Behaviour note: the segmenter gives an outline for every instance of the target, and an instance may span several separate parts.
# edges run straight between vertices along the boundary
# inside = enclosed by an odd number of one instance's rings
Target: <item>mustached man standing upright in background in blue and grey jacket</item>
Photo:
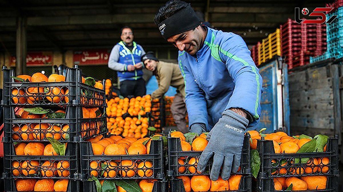
[[[121,28],[120,38],[121,41],[111,51],[108,67],[117,71],[122,96],[143,96],[146,88],[145,81],[142,79],[141,56],[145,54],[145,51],[141,45],[133,41],[131,27]]]

